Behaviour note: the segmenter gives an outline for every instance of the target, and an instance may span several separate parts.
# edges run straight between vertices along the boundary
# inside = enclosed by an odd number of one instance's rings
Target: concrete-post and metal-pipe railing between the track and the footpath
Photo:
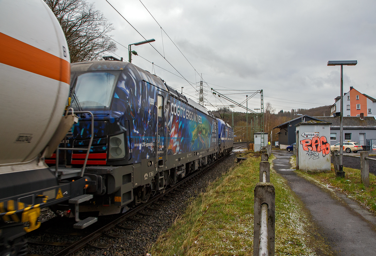
[[[255,186],[253,256],[274,256],[275,190],[270,183],[267,149],[262,149],[260,179]]]

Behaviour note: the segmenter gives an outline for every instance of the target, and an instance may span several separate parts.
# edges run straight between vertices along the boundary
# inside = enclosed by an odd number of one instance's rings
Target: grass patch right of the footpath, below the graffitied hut
[[[295,158],[291,158],[291,163]],[[337,178],[334,173],[334,166],[331,164],[331,172],[307,173],[296,170],[297,175],[315,182],[320,187],[332,191],[340,191],[347,197],[355,200],[365,209],[376,214],[376,176],[370,173],[370,186],[364,187],[361,180],[360,170],[343,167],[345,178]]]

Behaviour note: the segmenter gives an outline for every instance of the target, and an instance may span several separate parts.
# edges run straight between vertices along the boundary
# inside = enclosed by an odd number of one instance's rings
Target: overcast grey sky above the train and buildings
[[[210,88],[223,94],[262,89],[264,106],[270,102],[276,111],[331,105],[340,95],[340,66],[326,66],[328,60],[357,60],[344,66],[344,92],[353,86],[376,98],[374,0],[141,1],[191,64],[139,0],[108,0],[144,38],[156,40],[151,44],[173,67],[149,44],[132,46],[139,54],[132,63],[179,91],[183,86],[183,94],[196,101],[202,74],[208,109],[230,104]],[[126,47],[144,41],[105,0],[89,2],[113,23],[115,41]],[[115,53],[127,60],[127,48],[117,47]],[[227,96],[241,103],[246,94],[252,92]],[[259,94],[248,107],[260,108]]]

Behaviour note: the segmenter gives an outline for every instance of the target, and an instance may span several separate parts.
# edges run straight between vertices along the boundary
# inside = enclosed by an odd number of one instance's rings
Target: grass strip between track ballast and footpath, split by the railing
[[[191,201],[151,246],[152,256],[253,254],[253,190],[261,159],[250,152],[246,156]],[[285,179],[273,170],[270,179],[276,191],[275,255],[331,255]]]

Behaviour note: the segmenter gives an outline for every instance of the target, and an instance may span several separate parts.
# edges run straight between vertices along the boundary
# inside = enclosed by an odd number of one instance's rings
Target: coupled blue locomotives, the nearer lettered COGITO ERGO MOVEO
[[[127,211],[232,149],[230,126],[129,62],[72,63],[70,97],[74,110],[89,110],[95,117],[84,175],[94,198],[80,204],[80,212]],[[88,128],[88,116],[82,114],[65,146],[87,147]],[[84,152],[62,152],[59,166],[81,167],[84,158]],[[46,161],[55,164],[55,158]]]

